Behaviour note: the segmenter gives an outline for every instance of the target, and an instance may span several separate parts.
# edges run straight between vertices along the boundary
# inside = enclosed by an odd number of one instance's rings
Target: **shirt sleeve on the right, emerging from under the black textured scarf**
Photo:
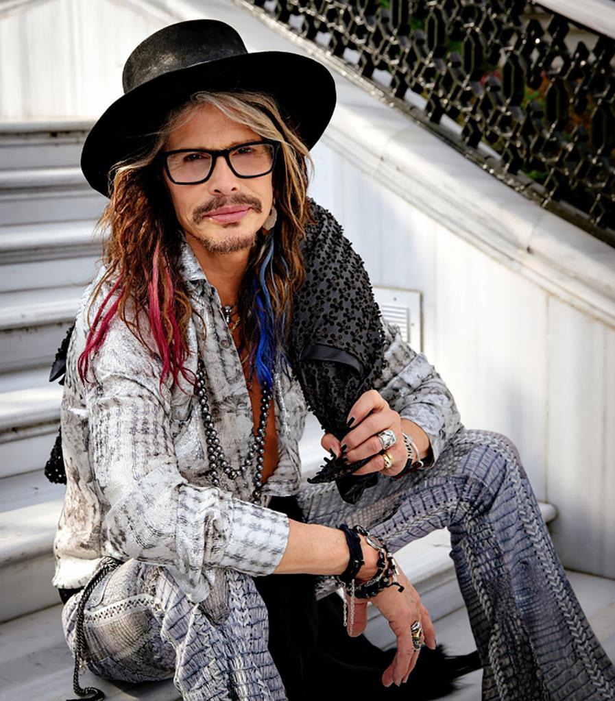
[[[406,343],[397,326],[381,318],[384,328],[385,367],[374,389],[391,409],[420,426],[431,443],[431,460],[438,460],[442,448],[463,427],[457,404],[449,388],[423,353]]]

